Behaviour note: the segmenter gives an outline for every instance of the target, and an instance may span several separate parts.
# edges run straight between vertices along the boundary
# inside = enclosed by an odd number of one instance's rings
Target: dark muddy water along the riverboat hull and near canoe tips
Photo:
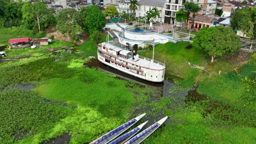
[[[163,82],[160,82],[160,83],[142,80],[135,76],[126,74],[120,70],[109,67],[108,65],[101,63],[97,59],[91,59],[90,62],[84,63],[84,66],[88,67],[88,68],[96,68],[96,69],[104,71],[106,73],[117,75],[117,79],[125,79],[128,81],[133,81],[133,82],[137,83],[138,85],[144,86],[145,88],[152,88],[154,90],[154,93],[150,94],[151,101],[158,101],[159,98],[161,98],[161,97],[167,97],[167,96],[172,95],[169,92],[169,90],[175,85],[175,83],[170,81],[170,79],[164,80]],[[168,76],[168,77],[170,77],[170,76]],[[187,95],[187,92],[181,92],[181,93],[172,95],[172,97],[184,98],[186,95]],[[179,104],[184,104],[184,100],[179,101]],[[144,113],[144,112],[150,111],[150,109],[152,109],[152,108],[144,107],[143,109],[137,109],[133,114],[139,115],[139,113]],[[149,122],[145,125],[144,128],[149,127],[150,125],[152,125],[156,121],[159,121],[163,117],[165,117],[165,115],[162,115],[161,113],[159,113],[156,116],[147,116],[146,115],[145,117],[142,118],[142,121],[148,120]],[[132,118],[133,117],[130,117],[129,119],[132,119]]]

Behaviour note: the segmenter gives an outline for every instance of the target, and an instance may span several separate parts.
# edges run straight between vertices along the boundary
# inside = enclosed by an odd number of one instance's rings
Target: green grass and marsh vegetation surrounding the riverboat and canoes
[[[155,59],[166,62],[167,76],[183,78],[175,80],[176,86],[166,98],[155,97],[151,88],[84,68],[87,57],[97,55],[97,45],[91,40],[79,46],[54,40],[46,47],[71,46],[72,53],[58,50],[43,57],[0,62],[0,141],[43,143],[68,133],[70,143],[87,143],[147,112],[142,121],[150,117],[157,121],[163,116],[169,119],[143,143],[254,143],[254,61],[230,73],[239,61],[218,58],[212,65],[203,53],[185,49],[188,44],[155,46]],[[48,50],[37,47],[5,52],[16,57]],[[146,57],[152,54],[139,53]],[[190,68],[187,62],[206,67],[210,75]],[[197,91],[207,96],[190,91],[183,98],[181,92],[188,91],[197,80]],[[20,89],[27,84],[33,88]]]

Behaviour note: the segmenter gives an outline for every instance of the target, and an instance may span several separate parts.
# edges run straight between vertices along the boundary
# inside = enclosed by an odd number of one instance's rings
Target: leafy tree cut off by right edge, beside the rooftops
[[[236,9],[231,19],[231,27],[248,37],[256,36],[256,7]]]

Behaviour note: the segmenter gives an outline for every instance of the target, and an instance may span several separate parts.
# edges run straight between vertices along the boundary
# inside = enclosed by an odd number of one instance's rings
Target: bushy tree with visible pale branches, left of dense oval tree
[[[77,34],[82,32],[78,21],[79,19],[79,12],[74,8],[61,9],[60,13],[57,14],[56,29],[62,34],[70,34],[73,40],[77,40]]]

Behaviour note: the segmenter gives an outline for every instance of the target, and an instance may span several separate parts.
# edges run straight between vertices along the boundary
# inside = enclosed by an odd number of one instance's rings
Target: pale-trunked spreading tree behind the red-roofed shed
[[[51,11],[47,8],[47,5],[44,2],[35,2],[33,4],[26,2],[22,5],[22,17],[24,23],[28,25],[30,21],[36,22],[38,31],[41,31],[40,25],[45,17],[52,15],[50,12]]]

